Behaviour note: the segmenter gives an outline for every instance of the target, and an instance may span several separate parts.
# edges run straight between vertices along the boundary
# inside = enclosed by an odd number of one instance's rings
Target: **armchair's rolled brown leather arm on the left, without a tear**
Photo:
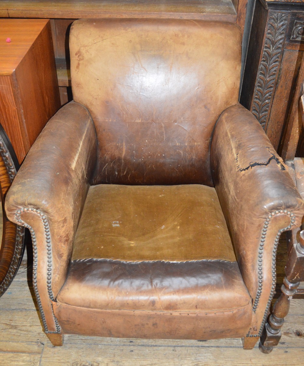
[[[96,155],[91,116],[85,107],[70,102],[49,120],[5,199],[8,219],[31,228],[38,276],[45,277],[42,285],[48,284],[50,299],[65,281]],[[42,285],[38,282],[38,290]]]

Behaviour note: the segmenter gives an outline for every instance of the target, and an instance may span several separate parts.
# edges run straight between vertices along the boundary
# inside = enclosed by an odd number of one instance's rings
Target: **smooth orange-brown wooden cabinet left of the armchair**
[[[0,123],[19,163],[59,108],[49,20],[0,19]]]

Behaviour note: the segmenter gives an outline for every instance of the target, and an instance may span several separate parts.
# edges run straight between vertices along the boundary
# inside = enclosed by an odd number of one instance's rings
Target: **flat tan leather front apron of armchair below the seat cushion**
[[[148,339],[217,339],[244,337],[251,305],[229,311],[98,310],[53,303],[63,333]],[[75,326],[77,324],[77,326]]]

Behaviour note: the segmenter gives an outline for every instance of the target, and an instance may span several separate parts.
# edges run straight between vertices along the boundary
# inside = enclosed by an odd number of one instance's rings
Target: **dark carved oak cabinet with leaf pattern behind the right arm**
[[[304,0],[256,0],[240,102],[282,154],[304,50]],[[295,150],[291,152],[293,158]]]

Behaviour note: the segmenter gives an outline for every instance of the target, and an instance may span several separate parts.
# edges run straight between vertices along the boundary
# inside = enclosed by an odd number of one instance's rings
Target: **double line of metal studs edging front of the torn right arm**
[[[267,234],[268,225],[269,225],[269,222],[270,222],[270,220],[272,219],[273,216],[278,215],[278,214],[282,214],[282,213],[290,216],[291,222],[290,222],[289,226],[287,226],[284,229],[279,230],[277,236],[275,237],[273,257],[272,257],[272,284],[271,284],[270,297],[269,297],[268,302],[267,302],[267,306],[266,306],[266,310],[265,310],[265,313],[264,313],[262,324],[260,326],[259,334],[258,335],[249,335],[249,332],[248,332],[247,336],[249,336],[249,337],[259,337],[262,334],[264,324],[267,320],[267,316],[268,316],[268,312],[269,312],[269,309],[270,309],[271,301],[272,301],[273,296],[274,296],[275,285],[277,283],[276,272],[275,272],[275,268],[276,268],[275,259],[276,259],[276,255],[277,255],[279,238],[280,238],[282,232],[284,232],[286,230],[290,230],[291,227],[294,225],[294,221],[296,221],[296,217],[294,216],[294,213],[292,213],[288,210],[277,210],[277,211],[271,212],[271,214],[269,216],[267,216],[267,219],[264,222],[264,226],[263,226],[263,229],[262,229],[262,237],[261,237],[260,246],[259,246],[258,291],[257,291],[256,298],[255,298],[254,305],[253,305],[254,312],[256,311],[256,308],[258,307],[259,299],[260,299],[260,296],[262,294],[262,287],[263,287],[263,272],[262,272],[263,271],[263,269],[262,269],[263,251],[264,251],[264,243],[265,243],[265,238],[266,238],[266,234]]]

